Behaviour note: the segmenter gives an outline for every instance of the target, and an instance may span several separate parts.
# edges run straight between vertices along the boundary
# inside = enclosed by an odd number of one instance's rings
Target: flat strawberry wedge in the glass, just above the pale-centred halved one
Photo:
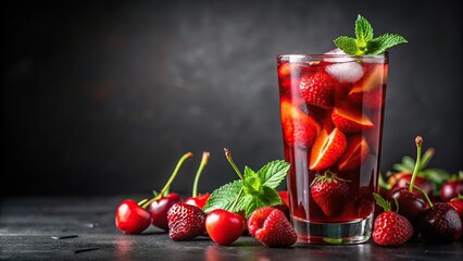
[[[335,108],[331,120],[342,133],[360,133],[374,127],[374,124],[366,115],[349,107]]]

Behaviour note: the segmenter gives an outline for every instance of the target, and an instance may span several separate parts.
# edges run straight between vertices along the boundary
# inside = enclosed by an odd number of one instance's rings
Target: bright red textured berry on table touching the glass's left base
[[[248,231],[266,247],[289,247],[298,240],[285,213],[272,207],[254,210],[248,219]]]

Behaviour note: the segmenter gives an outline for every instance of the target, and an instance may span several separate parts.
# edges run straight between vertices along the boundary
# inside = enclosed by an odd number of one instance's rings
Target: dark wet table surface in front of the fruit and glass
[[[2,198],[0,260],[463,260],[462,240],[399,248],[370,241],[276,249],[250,236],[223,247],[207,237],[175,243],[153,227],[142,235],[124,235],[114,225],[115,208],[124,198]],[[53,238],[60,236],[72,237]]]

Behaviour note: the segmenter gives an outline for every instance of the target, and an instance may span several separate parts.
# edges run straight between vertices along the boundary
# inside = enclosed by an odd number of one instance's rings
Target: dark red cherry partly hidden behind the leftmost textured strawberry
[[[148,207],[148,211],[152,216],[151,224],[164,231],[168,231],[167,211],[173,204],[180,201],[182,198],[176,192],[168,194],[160,199],[152,201]]]

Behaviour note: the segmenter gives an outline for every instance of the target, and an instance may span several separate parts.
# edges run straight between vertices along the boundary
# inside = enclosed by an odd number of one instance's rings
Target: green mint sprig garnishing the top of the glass
[[[408,42],[403,36],[397,34],[384,34],[374,38],[373,27],[370,22],[359,14],[355,21],[355,38],[340,36],[335,45],[347,54],[376,55],[399,44]]]

